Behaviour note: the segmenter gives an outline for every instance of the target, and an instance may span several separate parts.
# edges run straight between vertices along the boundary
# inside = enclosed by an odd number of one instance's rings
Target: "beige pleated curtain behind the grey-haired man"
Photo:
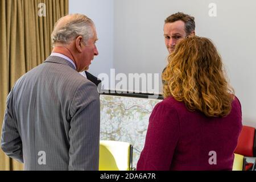
[[[0,1],[1,131],[7,94],[20,76],[49,56],[54,23],[66,14],[68,0]],[[0,170],[23,170],[23,164],[8,158],[0,150]]]

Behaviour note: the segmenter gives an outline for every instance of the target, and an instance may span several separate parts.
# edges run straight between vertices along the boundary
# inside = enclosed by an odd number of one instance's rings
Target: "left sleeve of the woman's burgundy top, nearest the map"
[[[177,111],[167,102],[160,102],[150,115],[137,170],[170,170],[179,135]]]

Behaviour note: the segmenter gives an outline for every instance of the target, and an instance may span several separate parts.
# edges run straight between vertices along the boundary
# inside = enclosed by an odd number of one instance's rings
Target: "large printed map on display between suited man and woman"
[[[144,147],[148,118],[162,100],[101,95],[101,140],[129,142],[133,145],[133,167]]]

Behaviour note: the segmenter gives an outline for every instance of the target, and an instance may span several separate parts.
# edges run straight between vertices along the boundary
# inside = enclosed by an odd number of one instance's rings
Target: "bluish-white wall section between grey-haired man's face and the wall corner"
[[[113,0],[69,0],[69,14],[81,13],[93,20],[99,55],[95,56],[89,72],[110,74],[113,68]]]

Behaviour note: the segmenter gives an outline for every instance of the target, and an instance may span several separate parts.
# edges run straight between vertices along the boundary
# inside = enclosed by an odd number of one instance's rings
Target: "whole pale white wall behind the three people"
[[[216,17],[208,15],[209,3],[216,3]],[[126,75],[161,73],[168,56],[164,19],[177,11],[195,16],[196,34],[212,39],[220,51],[244,124],[256,127],[256,1],[69,0],[69,7],[96,23],[100,55],[90,67],[96,75],[110,68]]]

